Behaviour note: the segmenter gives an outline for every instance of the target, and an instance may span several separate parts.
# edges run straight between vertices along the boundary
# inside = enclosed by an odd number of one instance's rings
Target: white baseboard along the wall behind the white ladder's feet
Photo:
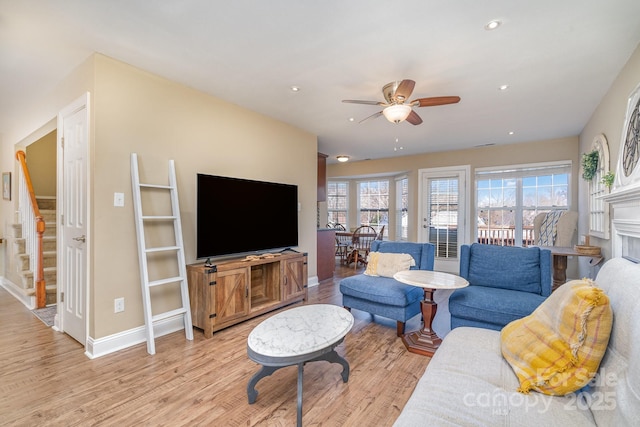
[[[161,337],[176,331],[184,330],[184,316],[176,315],[168,319],[160,320],[153,325],[155,337]],[[87,339],[87,347],[85,355],[89,359],[106,356],[116,351],[147,342],[147,335],[144,326],[129,329],[127,331],[118,332],[103,338]]]

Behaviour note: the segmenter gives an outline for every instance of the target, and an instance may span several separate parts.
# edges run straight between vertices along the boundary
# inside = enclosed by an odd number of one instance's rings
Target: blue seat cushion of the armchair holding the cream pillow
[[[422,288],[400,283],[389,277],[370,277],[364,274],[347,277],[340,282],[340,292],[355,298],[384,305],[406,307],[420,301]]]

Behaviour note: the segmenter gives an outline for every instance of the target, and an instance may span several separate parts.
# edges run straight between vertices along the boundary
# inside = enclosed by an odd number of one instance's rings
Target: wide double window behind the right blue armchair
[[[569,209],[570,174],[569,162],[477,169],[477,241],[502,246],[535,244],[535,216]]]

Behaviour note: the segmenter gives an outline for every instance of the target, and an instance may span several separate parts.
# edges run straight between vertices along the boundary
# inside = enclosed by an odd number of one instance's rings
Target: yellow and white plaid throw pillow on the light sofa
[[[529,316],[501,332],[502,355],[521,393],[574,392],[595,376],[609,343],[609,298],[589,279],[560,286]]]

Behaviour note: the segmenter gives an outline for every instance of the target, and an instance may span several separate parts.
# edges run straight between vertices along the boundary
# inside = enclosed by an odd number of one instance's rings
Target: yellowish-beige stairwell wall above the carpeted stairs
[[[56,195],[56,131],[26,147],[27,166],[36,196]]]

